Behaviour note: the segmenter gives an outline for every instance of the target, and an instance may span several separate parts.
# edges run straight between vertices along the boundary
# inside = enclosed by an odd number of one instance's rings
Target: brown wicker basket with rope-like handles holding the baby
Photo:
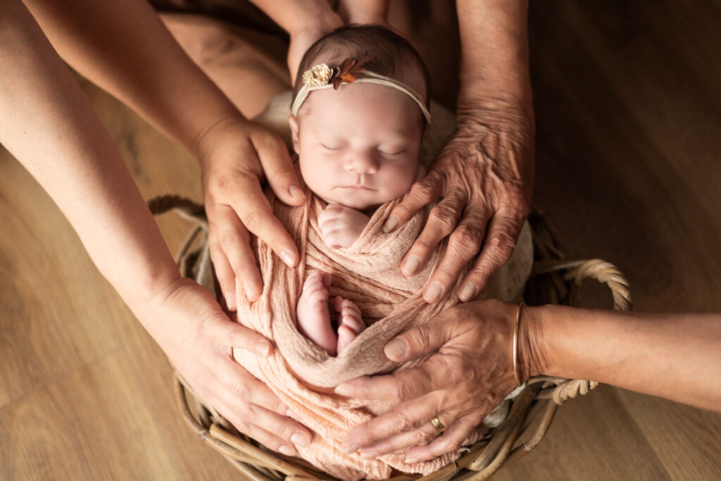
[[[190,233],[178,256],[182,275],[216,291],[208,254],[208,222],[202,206],[190,200],[166,196],[149,202],[153,213],[180,212],[197,226]],[[585,279],[596,279],[611,289],[614,309],[631,309],[629,285],[624,275],[609,262],[599,259],[566,261],[559,250],[557,236],[544,216],[534,212],[528,219],[534,233],[534,269],[526,285],[529,305],[564,304],[578,306],[578,287]],[[526,381],[503,424],[473,446],[460,459],[430,475],[396,476],[402,480],[486,480],[503,463],[525,456],[541,442],[552,423],[556,410],[566,400],[587,394],[595,381],[538,376]],[[223,454],[250,480],[333,480],[324,472],[301,466],[266,449],[257,441],[238,433],[221,415],[203,402],[193,389],[174,373],[175,396],[187,425],[208,446]],[[525,441],[519,439],[523,437]]]

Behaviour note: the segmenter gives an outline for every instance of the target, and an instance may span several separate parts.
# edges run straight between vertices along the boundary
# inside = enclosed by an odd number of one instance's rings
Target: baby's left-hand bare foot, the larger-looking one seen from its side
[[[296,315],[298,331],[324,349],[328,356],[335,356],[338,336],[330,325],[328,310],[330,281],[329,273],[319,270],[311,273],[303,284],[303,292],[296,306]]]

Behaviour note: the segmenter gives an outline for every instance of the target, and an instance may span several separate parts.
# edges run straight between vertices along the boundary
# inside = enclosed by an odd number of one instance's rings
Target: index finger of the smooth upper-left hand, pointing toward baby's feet
[[[298,248],[283,224],[273,215],[260,182],[256,177],[243,177],[238,183],[238,193],[232,199],[231,207],[238,213],[243,225],[268,244],[288,267],[295,267]]]

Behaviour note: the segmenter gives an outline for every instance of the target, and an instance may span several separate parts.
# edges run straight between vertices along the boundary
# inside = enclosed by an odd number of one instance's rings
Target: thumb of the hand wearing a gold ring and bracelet
[[[448,324],[447,320],[443,322],[442,317],[436,316],[428,323],[394,337],[385,345],[384,353],[391,361],[404,362],[438,350],[453,337],[446,327]]]

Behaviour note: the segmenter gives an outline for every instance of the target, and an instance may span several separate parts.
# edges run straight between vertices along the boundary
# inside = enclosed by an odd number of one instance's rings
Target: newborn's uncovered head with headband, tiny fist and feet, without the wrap
[[[371,35],[405,43],[382,27],[350,31],[355,43]],[[399,50],[405,55],[375,51],[343,60],[342,46],[327,42],[301,62],[304,75],[296,82],[290,117],[293,148],[306,185],[328,203],[318,219],[328,247],[350,247],[373,211],[402,197],[423,173],[418,159],[430,125],[428,71],[410,45]],[[353,86],[332,88],[343,81]],[[311,273],[296,313],[298,329],[335,356],[366,324],[353,301],[336,296],[336,333],[328,306],[331,282],[329,273]]]

